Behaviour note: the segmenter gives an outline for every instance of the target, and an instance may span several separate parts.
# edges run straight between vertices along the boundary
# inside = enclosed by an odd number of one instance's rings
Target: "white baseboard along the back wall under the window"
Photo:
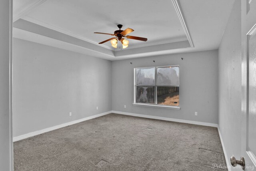
[[[123,112],[123,111],[112,111],[112,113],[117,113],[117,114],[121,114],[121,115],[129,115],[129,116],[137,116],[137,117],[145,117],[145,118],[150,118],[150,119],[159,119],[159,120],[164,120],[164,121],[190,123],[190,124],[203,125],[203,126],[209,126],[209,127],[218,127],[218,124],[216,124],[216,123],[189,121],[189,120],[183,120],[183,119],[174,119],[174,118],[169,118],[169,117],[160,117],[160,116],[152,116],[152,115],[142,115],[142,114],[137,114],[137,113]]]

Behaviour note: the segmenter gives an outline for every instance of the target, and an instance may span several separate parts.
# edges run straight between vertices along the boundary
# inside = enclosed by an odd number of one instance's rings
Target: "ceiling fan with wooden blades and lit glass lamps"
[[[109,34],[109,33],[100,33],[100,32],[94,32],[96,34],[108,34],[111,36],[116,36],[115,38],[110,38],[108,40],[104,40],[103,42],[100,42],[99,44],[103,44],[105,42],[110,41],[111,45],[114,48],[117,48],[117,40],[119,40],[122,45],[123,45],[123,49],[128,47],[129,41],[124,39],[124,38],[128,38],[128,39],[134,39],[134,40],[141,40],[141,41],[147,41],[147,38],[141,38],[141,37],[136,37],[136,36],[126,36],[126,34],[129,34],[131,32],[133,32],[134,30],[132,30],[131,28],[126,28],[125,30],[121,30],[122,26],[121,24],[117,25],[119,30],[114,31],[114,34]]]

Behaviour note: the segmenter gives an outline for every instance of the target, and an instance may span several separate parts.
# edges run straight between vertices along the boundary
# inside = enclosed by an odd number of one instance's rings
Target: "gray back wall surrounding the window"
[[[113,61],[112,110],[218,123],[217,62],[218,50]],[[180,65],[181,109],[133,106],[134,68],[166,65]]]

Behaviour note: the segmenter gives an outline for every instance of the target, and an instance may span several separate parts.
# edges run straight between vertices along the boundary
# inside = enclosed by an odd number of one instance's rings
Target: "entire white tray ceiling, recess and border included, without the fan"
[[[17,21],[19,23],[26,20],[85,42],[80,50],[77,50],[78,45],[75,45],[76,48],[70,46],[69,50],[120,60],[218,49],[233,3],[234,0],[14,0],[13,15],[14,21],[23,19]],[[23,22],[23,25],[29,22]],[[112,36],[93,32],[113,33],[118,30],[117,24],[124,25],[122,30],[135,30],[129,35],[146,37],[148,41],[130,39],[129,47],[121,51],[112,48],[110,42],[99,45],[98,42]],[[62,48],[60,44],[57,45],[62,41],[62,44],[66,44],[64,49],[67,49],[67,44],[72,44],[48,36],[50,34],[38,33],[38,27],[33,31],[21,25],[15,26],[14,23],[14,27],[17,27],[14,37],[58,48]],[[96,47],[88,48],[86,42]],[[192,42],[194,47],[191,47]],[[159,44],[166,46],[162,48]],[[99,49],[102,46],[110,52]],[[116,53],[111,52],[114,50],[117,50]]]

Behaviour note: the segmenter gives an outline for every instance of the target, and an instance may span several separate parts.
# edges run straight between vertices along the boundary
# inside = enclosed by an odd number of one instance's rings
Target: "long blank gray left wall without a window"
[[[14,137],[112,110],[111,61],[16,38],[13,49]]]

